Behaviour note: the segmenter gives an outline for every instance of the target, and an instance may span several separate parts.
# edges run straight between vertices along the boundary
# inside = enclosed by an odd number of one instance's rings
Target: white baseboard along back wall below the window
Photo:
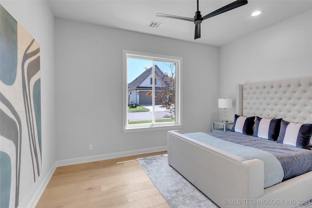
[[[156,148],[146,148],[141,150],[134,150],[134,151],[121,151],[116,153],[108,153],[108,154],[98,154],[93,156],[87,156],[87,157],[77,157],[73,159],[66,159],[66,160],[58,160],[56,161],[56,166],[67,166],[67,165],[75,165],[80,163],[88,163],[88,162],[95,162],[99,160],[108,160],[118,157],[127,157],[127,156],[133,156],[137,154],[145,154],[145,153],[151,153],[151,152],[157,152],[157,151],[167,151],[167,146],[162,147],[156,147]]]

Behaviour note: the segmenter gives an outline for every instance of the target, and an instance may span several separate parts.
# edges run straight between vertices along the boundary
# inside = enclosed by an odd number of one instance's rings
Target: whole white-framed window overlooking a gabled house
[[[123,51],[123,131],[182,125],[182,58]]]

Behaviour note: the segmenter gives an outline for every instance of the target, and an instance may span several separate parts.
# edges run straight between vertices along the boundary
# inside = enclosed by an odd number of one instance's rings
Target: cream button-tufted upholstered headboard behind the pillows
[[[312,123],[312,78],[239,84],[236,114]]]

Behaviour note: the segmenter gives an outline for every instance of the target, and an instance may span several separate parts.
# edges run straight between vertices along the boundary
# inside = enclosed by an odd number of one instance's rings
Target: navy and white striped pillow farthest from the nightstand
[[[282,120],[277,143],[306,148],[310,145],[312,124],[293,123]]]

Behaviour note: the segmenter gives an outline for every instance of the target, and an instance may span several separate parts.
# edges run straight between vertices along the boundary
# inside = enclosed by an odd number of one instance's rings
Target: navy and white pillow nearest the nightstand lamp
[[[239,116],[235,114],[234,125],[231,131],[243,133],[247,135],[253,135],[254,118],[255,116],[244,117],[244,116]]]

